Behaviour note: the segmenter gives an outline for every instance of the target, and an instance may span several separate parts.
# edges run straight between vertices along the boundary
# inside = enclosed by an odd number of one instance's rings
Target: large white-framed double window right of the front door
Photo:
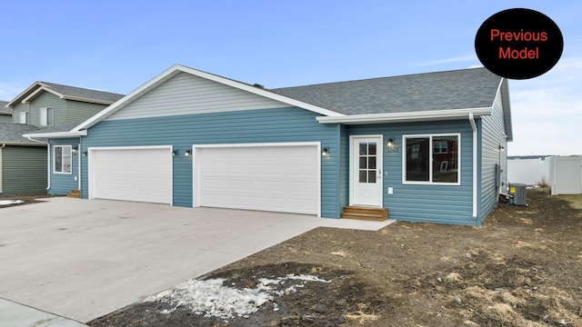
[[[460,134],[405,135],[403,183],[460,183]]]

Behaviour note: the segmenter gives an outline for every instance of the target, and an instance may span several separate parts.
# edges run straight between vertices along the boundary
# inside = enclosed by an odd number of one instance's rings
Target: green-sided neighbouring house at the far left
[[[45,139],[26,138],[23,134],[80,124],[122,97],[35,82],[13,100],[0,103],[0,196],[46,193],[48,145]],[[72,154],[62,154],[66,155]]]

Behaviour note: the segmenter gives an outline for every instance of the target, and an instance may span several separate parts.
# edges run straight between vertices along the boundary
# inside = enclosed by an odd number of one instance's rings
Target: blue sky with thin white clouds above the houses
[[[511,80],[507,154],[582,154],[580,1],[0,0],[0,100],[35,81],[127,94],[173,64],[267,88],[479,66],[478,27],[514,7],[552,18],[564,53]]]

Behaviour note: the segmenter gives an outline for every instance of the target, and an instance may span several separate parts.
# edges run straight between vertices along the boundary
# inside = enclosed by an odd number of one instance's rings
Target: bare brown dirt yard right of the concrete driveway
[[[582,326],[582,211],[527,195],[527,208],[501,204],[482,227],[318,228],[197,279],[256,290],[279,278],[256,312],[212,316],[166,292],[89,325]]]

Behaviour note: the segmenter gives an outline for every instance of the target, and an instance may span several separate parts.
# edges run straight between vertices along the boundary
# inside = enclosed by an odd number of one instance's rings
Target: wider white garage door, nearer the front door
[[[319,212],[317,145],[202,147],[196,154],[200,206]]]

